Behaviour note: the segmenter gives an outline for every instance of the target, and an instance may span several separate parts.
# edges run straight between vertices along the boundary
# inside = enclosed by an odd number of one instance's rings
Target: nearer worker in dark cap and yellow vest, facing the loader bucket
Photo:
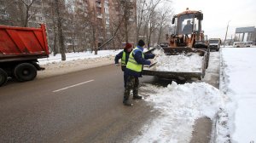
[[[145,43],[143,40],[139,40],[137,47],[131,51],[129,59],[125,69],[125,75],[127,75],[127,83],[125,86],[124,100],[125,106],[132,106],[129,101],[131,89],[133,91],[133,100],[141,100],[142,96],[138,95],[139,80],[138,77],[142,77],[143,65],[150,65],[154,54],[143,54],[143,47]]]

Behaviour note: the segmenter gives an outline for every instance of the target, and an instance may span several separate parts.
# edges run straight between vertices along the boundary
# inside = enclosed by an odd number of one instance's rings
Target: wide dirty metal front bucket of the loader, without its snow
[[[205,49],[190,49],[190,48],[163,48],[166,55],[177,55],[177,54],[191,54],[196,53],[202,56],[201,72],[163,72],[150,70],[152,67],[143,67],[143,75],[163,77],[168,79],[178,80],[201,80],[205,76],[207,69],[207,62],[209,59],[208,51]],[[154,49],[149,50],[147,53],[153,53]],[[173,61],[175,62],[175,61]],[[154,67],[154,66],[153,66]]]

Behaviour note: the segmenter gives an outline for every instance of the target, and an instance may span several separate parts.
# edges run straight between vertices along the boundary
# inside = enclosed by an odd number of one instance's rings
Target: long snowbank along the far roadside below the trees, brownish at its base
[[[65,61],[61,61],[61,54],[56,54],[55,56],[50,54],[49,58],[39,60],[39,65],[43,66],[45,70],[38,72],[37,78],[52,77],[68,72],[110,65],[114,63],[114,56],[120,51],[100,50],[98,54],[90,52],[67,53]]]

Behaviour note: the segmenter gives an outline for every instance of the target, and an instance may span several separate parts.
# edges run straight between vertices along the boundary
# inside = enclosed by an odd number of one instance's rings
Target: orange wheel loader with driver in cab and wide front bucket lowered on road
[[[205,40],[204,33],[201,30],[201,20],[203,20],[201,11],[186,9],[184,12],[174,15],[172,18],[174,32],[171,35],[166,34],[166,41],[169,44],[160,46],[161,49],[164,49],[165,54],[170,56],[177,54],[184,54],[185,56],[193,53],[199,54],[202,56],[201,72],[161,72],[144,68],[143,75],[183,80],[189,80],[191,78],[202,79],[205,76],[208,66],[210,51],[208,49],[207,39]],[[148,53],[153,51],[154,49],[148,51]]]

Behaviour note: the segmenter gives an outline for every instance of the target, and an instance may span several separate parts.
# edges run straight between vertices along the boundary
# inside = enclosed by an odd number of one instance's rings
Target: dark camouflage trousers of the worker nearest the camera
[[[124,100],[129,100],[131,89],[133,91],[133,96],[138,95],[138,85],[139,85],[138,77],[134,77],[134,76],[130,76],[130,75],[127,77]]]

